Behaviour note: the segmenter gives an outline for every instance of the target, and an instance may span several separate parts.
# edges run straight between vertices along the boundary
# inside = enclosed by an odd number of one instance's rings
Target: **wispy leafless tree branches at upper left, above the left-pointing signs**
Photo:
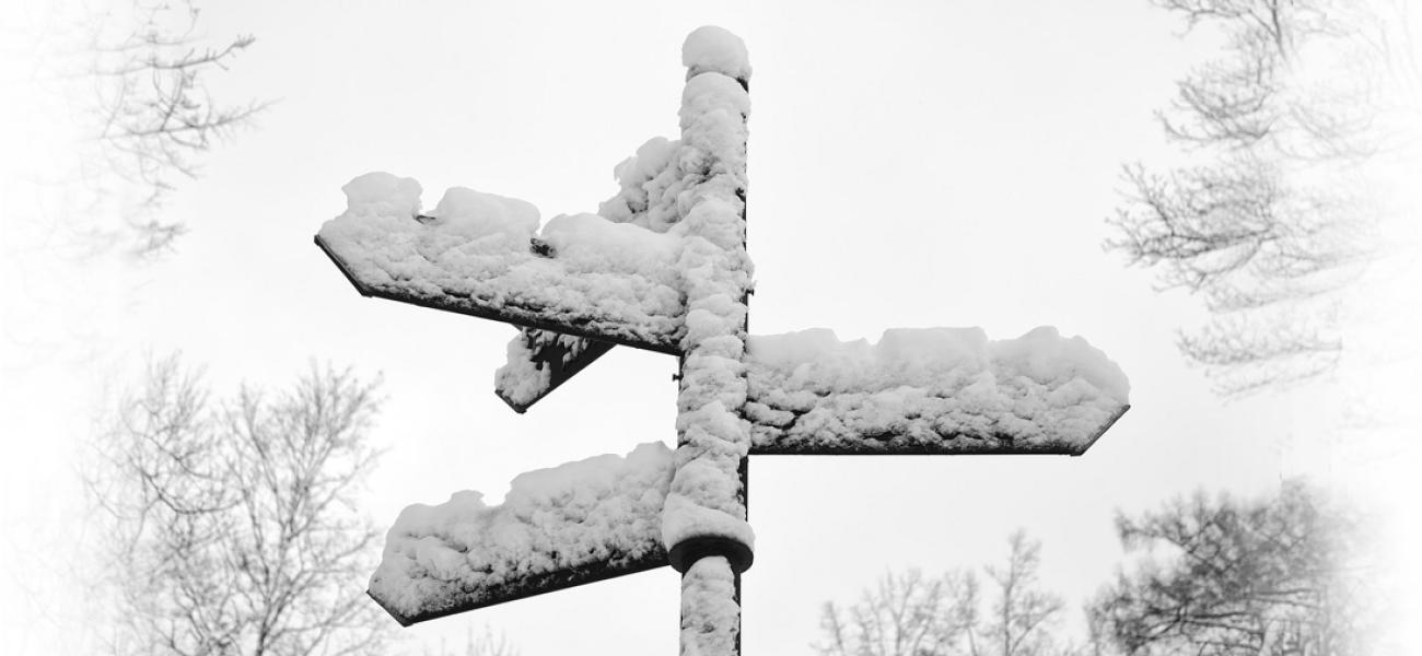
[[[128,0],[82,4],[77,14],[54,9],[73,27],[57,34],[46,57],[40,91],[70,104],[80,136],[68,193],[85,197],[51,217],[82,251],[122,248],[146,257],[172,247],[182,220],[162,207],[182,179],[199,175],[203,156],[250,126],[267,102],[228,105],[209,91],[256,40],[206,38],[195,0]]]

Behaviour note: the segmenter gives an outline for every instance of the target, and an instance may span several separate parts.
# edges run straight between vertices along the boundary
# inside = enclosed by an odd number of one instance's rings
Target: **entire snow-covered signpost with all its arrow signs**
[[[1054,328],[748,335],[751,65],[718,27],[681,58],[681,138],[619,165],[596,214],[539,230],[532,204],[462,187],[424,213],[419,183],[367,173],[316,237],[363,295],[513,324],[495,392],[516,412],[619,345],[680,362],[675,450],[520,474],[499,505],[405,508],[370,582],[402,625],[671,565],[681,652],[738,653],[748,456],[1079,456],[1129,408],[1121,368]]]

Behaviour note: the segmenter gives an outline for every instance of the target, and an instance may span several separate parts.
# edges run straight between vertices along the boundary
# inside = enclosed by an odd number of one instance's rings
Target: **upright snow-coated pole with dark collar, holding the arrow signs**
[[[690,43],[690,41],[688,41]],[[684,48],[681,145],[690,168],[687,247],[680,268],[687,335],[677,395],[677,473],[663,515],[681,582],[681,652],[739,653],[739,575],[752,559],[742,473],[751,449],[745,405],[748,67],[744,57]],[[741,71],[725,65],[742,64]]]

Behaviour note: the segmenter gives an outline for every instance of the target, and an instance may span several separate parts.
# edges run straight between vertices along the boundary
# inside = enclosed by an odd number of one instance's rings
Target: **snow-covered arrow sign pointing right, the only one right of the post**
[[[1115,362],[1051,327],[752,337],[747,379],[752,454],[1081,454],[1129,403]]]

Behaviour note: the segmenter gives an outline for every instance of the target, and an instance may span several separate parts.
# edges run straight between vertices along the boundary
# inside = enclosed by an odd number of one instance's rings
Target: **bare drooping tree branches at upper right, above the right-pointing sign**
[[[1379,210],[1365,163],[1406,138],[1382,119],[1394,109],[1382,91],[1422,80],[1405,53],[1409,35],[1388,17],[1406,9],[1156,4],[1190,28],[1219,30],[1226,57],[1180,80],[1159,114],[1196,163],[1166,173],[1128,166],[1106,247],[1158,268],[1163,288],[1200,295],[1213,319],[1179,346],[1221,392],[1331,372],[1344,346],[1340,291],[1375,253]]]

